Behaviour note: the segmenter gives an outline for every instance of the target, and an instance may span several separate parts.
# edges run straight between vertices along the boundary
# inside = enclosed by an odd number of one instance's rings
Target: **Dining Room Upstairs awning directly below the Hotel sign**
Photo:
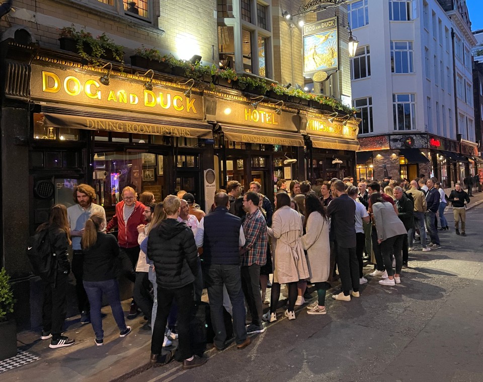
[[[250,129],[221,125],[225,138],[235,142],[303,146],[302,135],[288,131]]]

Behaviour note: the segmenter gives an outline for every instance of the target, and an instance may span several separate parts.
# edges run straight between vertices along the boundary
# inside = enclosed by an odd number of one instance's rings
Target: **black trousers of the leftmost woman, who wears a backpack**
[[[44,303],[42,305],[42,330],[52,333],[58,339],[63,332],[65,315],[67,314],[67,278],[66,273],[57,273],[55,286],[43,281]]]

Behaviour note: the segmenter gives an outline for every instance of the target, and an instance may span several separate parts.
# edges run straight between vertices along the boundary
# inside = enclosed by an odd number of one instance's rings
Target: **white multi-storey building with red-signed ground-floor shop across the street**
[[[358,179],[424,174],[449,187],[474,171],[470,52],[476,41],[469,19],[444,7],[444,0],[348,3],[360,41],[351,60],[353,106],[362,118]]]

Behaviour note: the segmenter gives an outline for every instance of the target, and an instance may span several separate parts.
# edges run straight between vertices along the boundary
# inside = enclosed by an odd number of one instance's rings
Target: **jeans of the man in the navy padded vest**
[[[215,332],[213,343],[218,348],[225,346],[226,328],[223,319],[223,286],[226,286],[233,317],[233,332],[237,344],[247,339],[245,328],[245,303],[244,294],[241,290],[241,274],[239,265],[206,265],[203,266],[208,298],[210,300],[211,323]]]

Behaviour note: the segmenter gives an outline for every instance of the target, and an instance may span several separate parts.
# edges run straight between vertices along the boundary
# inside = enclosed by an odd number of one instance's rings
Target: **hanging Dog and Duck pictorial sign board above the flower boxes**
[[[312,78],[317,71],[339,68],[337,17],[303,26],[303,75]]]

